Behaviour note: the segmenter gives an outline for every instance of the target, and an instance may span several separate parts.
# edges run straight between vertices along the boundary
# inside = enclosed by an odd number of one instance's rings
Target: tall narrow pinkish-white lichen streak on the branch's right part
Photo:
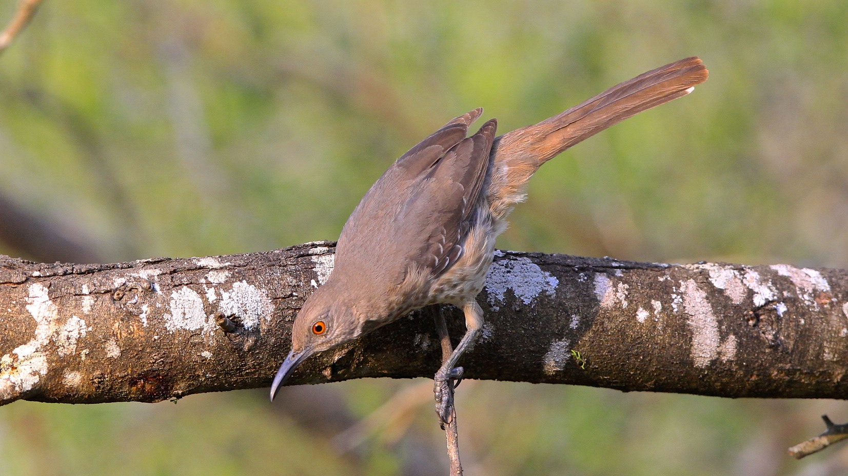
[[[692,332],[690,355],[695,367],[704,368],[718,355],[718,321],[712,313],[706,292],[698,287],[695,280],[684,282],[682,291],[683,312],[686,313],[686,324],[689,324]]]

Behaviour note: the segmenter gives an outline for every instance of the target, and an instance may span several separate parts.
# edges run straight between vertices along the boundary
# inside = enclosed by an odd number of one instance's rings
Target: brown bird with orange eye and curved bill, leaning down
[[[543,163],[635,113],[682,97],[706,80],[699,58],[685,58],[625,81],[537,125],[495,138],[489,120],[466,137],[483,109],[451,120],[399,158],[371,186],[344,224],[335,267],[300,309],[292,347],[271,385],[271,400],[293,370],[406,313],[450,303],[466,317],[466,335],[436,374],[437,412],[457,360],[477,338],[475,300],[492,263],[494,240],[525,198]]]

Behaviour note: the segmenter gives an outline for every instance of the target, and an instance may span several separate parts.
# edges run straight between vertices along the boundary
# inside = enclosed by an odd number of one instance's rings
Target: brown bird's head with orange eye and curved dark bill
[[[312,355],[332,349],[359,337],[362,326],[354,307],[333,293],[331,283],[313,292],[300,308],[292,324],[292,348],[276,372],[271,385],[271,401],[294,369]]]

